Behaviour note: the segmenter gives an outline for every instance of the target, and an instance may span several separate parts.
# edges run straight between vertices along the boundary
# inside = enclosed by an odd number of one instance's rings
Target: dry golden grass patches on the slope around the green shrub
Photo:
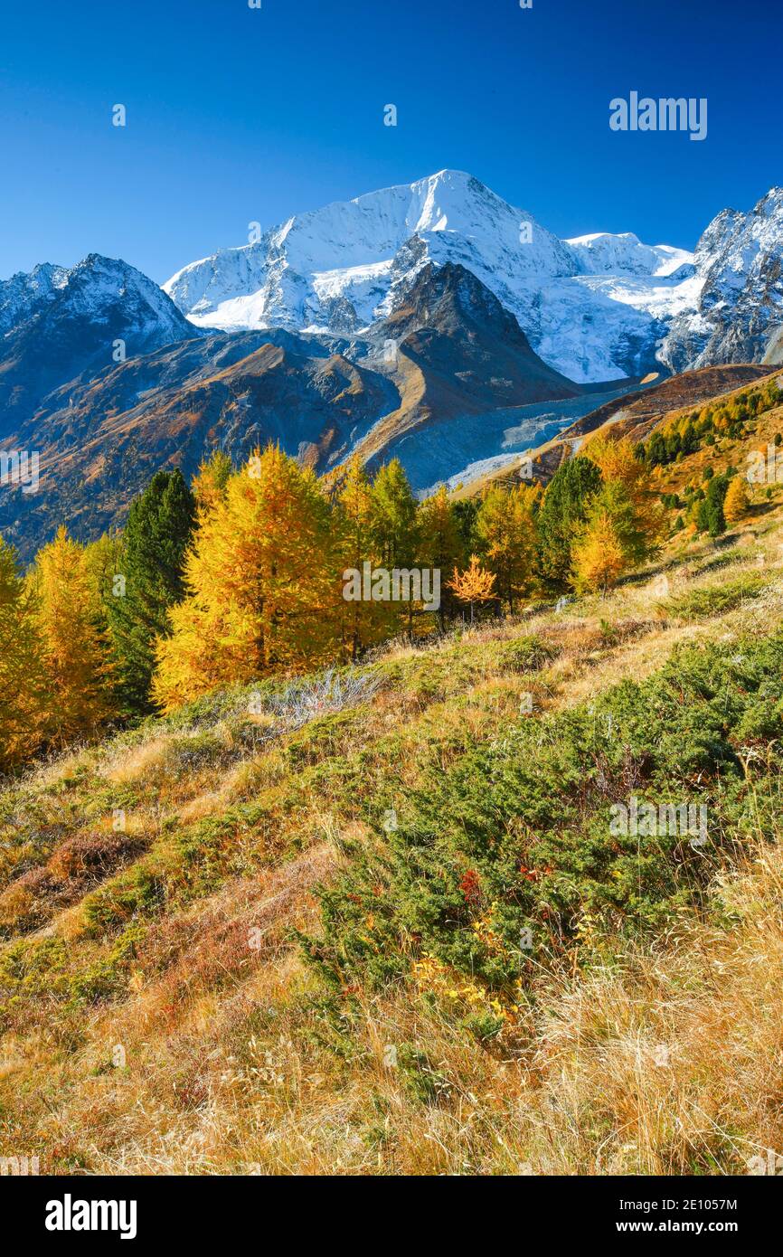
[[[364,757],[368,789],[393,755],[412,788],[434,745],[445,764],[466,730],[493,737],[528,689],[537,705],[563,706],[647,675],[685,639],[772,631],[783,613],[774,523],[764,520],[764,534],[749,523],[730,567],[731,577],[753,572],[763,553],[769,590],[713,620],[669,621],[651,571],[558,615],[469,628],[457,654],[454,641],[424,654],[391,645],[380,662],[398,665],[402,680],[333,735],[334,754]],[[677,546],[660,568],[677,559]],[[689,546],[669,569],[671,592],[720,579],[703,571],[715,554],[709,543]],[[529,634],[556,656],[517,675],[498,647]],[[470,661],[466,681],[457,661]],[[172,742],[152,730],[103,755],[85,749],[25,789],[64,823],[84,802],[73,784],[80,771],[102,787],[141,783],[129,835],[161,845],[263,798],[264,836],[231,836],[254,847],[255,862],[151,923],[121,998],[88,1004],[73,1021],[53,1002],[6,1036],[0,1154],[38,1153],[44,1173],[742,1174],[750,1156],[783,1149],[778,833],[759,833],[715,882],[730,929],[689,918],[647,948],[584,941],[557,970],[542,967],[524,1011],[486,1048],[460,1028],[426,970],[382,997],[357,992],[353,1022],[336,1023],[292,930],[317,929],[317,886],[361,826],[324,786],[282,802],[299,772],[287,739],[186,774],[170,763]],[[48,871],[78,890],[85,852],[60,842]],[[19,882],[16,900],[4,896],[8,925],[29,910],[25,894]],[[68,943],[74,963],[106,955],[79,903],[57,906],[45,930]],[[395,1065],[405,1045],[426,1051],[437,1072],[430,1100]]]

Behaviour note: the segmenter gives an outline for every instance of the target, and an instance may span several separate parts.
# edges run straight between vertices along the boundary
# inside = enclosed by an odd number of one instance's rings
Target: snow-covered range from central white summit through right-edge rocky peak
[[[689,253],[632,233],[559,240],[478,178],[444,170],[290,217],[163,289],[199,327],[354,334],[445,261],[473,272],[577,382],[749,361],[783,319],[783,189],[748,214],[724,210]]]

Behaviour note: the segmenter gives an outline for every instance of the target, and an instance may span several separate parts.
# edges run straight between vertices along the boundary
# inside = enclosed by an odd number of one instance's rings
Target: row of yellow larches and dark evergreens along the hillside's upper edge
[[[665,512],[627,441],[594,437],[547,489],[424,502],[398,460],[318,479],[278,446],[216,451],[191,484],[158,471],[124,528],[60,527],[23,572],[0,538],[0,768],[168,711],[216,686],[356,661],[391,636],[606,591],[657,547]],[[437,612],[346,601],[343,572],[436,568]]]

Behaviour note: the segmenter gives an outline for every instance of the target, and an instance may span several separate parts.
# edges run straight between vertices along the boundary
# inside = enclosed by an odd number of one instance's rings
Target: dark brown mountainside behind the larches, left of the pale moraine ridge
[[[178,466],[191,476],[215,446],[241,461],[279,441],[322,468],[396,405],[387,380],[327,344],[270,337],[186,341],[52,393],[14,434],[14,447],[40,451],[40,486],[28,495],[0,489],[3,535],[25,558],[62,522],[94,538],[124,522],[156,470]]]

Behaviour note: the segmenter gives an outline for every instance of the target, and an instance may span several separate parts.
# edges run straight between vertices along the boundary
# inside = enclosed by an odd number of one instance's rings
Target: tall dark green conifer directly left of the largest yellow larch
[[[157,471],[133,502],[119,566],[107,597],[118,695],[128,713],[152,710],[156,640],[168,632],[168,611],[185,597],[185,556],[196,503],[182,473]]]

